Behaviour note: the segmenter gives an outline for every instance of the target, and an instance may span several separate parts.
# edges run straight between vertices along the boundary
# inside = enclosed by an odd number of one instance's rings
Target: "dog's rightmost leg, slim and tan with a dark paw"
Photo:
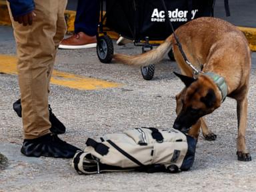
[[[245,145],[245,130],[247,127],[247,97],[237,100],[237,159],[239,161],[251,161],[251,155]]]

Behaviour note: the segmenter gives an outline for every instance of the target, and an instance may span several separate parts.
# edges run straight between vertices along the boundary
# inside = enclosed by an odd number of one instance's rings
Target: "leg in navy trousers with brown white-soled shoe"
[[[99,23],[99,0],[79,0],[75,15],[75,34],[61,41],[59,49],[96,47]]]

